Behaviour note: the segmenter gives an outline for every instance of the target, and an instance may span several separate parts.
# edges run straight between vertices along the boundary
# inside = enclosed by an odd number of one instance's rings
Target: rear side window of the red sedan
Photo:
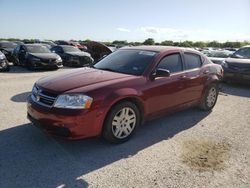
[[[197,54],[184,53],[186,69],[196,69],[201,67],[201,57]]]

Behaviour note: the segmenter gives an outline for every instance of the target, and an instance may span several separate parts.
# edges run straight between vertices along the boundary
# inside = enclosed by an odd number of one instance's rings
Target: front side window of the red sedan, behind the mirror
[[[182,61],[180,54],[172,54],[164,57],[157,68],[167,69],[170,73],[182,71]]]

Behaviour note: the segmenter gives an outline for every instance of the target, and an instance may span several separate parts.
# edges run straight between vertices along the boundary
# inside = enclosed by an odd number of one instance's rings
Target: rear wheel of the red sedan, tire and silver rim
[[[204,94],[204,97],[200,103],[200,109],[204,111],[210,111],[214,108],[219,94],[218,84],[211,84]]]

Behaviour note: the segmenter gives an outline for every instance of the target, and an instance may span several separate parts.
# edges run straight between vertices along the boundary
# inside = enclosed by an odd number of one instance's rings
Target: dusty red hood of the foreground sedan
[[[38,87],[45,90],[60,94],[94,84],[100,84],[112,80],[119,81],[120,79],[130,77],[133,76],[84,67],[42,78],[38,80],[36,84]]]

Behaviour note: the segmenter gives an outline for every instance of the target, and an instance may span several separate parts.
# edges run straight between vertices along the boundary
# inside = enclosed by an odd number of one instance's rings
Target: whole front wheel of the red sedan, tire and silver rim
[[[128,101],[118,103],[109,111],[102,135],[110,143],[126,142],[135,133],[140,120],[139,109],[134,103]]]

